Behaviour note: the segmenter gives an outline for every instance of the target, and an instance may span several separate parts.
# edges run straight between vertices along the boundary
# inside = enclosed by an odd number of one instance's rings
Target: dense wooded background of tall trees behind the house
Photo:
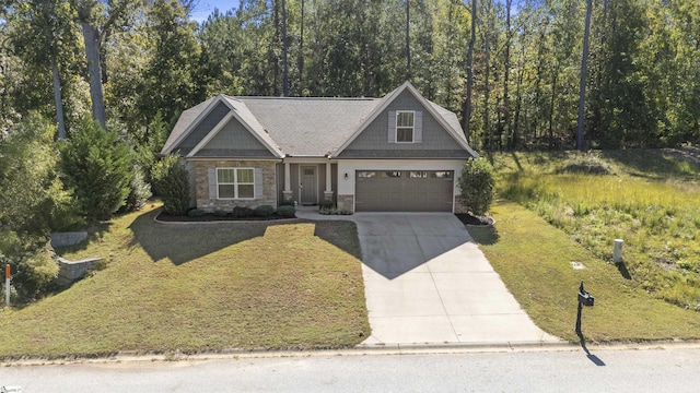
[[[212,95],[283,95],[287,64],[290,96],[408,79],[477,150],[574,148],[585,0],[472,1],[243,0],[198,25],[196,0],[0,0],[0,130],[37,111],[70,138],[92,114],[158,144]],[[586,148],[700,141],[699,1],[593,1],[584,118]]]

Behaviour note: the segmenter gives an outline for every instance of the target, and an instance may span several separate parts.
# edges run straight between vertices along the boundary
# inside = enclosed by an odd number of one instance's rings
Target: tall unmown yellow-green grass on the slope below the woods
[[[662,151],[492,157],[499,193],[610,261],[625,240],[630,286],[700,311],[700,167]],[[611,175],[562,170],[593,163]]]

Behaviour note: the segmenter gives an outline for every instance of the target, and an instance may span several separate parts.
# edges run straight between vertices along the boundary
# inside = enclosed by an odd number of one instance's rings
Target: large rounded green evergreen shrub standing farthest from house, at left
[[[60,156],[63,181],[89,221],[106,219],[126,203],[131,154],[115,131],[84,119],[61,145]]]

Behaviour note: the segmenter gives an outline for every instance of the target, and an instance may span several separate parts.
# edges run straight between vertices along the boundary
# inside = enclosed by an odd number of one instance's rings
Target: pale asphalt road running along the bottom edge
[[[34,392],[698,392],[700,349],[311,355],[0,368]]]

